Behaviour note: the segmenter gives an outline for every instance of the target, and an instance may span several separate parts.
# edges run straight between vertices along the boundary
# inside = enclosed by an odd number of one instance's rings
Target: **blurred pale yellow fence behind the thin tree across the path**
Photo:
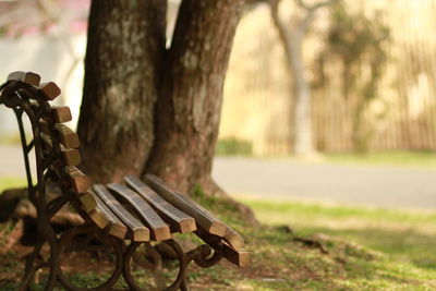
[[[304,11],[282,2],[292,31]],[[316,150],[436,148],[435,9],[434,0],[344,0],[316,12],[302,49]],[[293,153],[295,99],[286,63],[269,7],[257,5],[234,39],[221,142],[244,144],[254,156]]]

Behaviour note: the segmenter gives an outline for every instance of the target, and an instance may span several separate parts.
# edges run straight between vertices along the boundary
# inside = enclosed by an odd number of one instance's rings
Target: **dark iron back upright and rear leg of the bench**
[[[58,239],[55,230],[50,226],[49,220],[56,211],[47,216],[47,197],[46,197],[46,180],[44,178],[45,163],[47,157],[43,153],[40,132],[38,123],[41,116],[49,110],[47,100],[40,98],[40,93],[29,84],[16,81],[8,81],[0,86],[1,104],[12,108],[20,128],[20,136],[22,140],[22,149],[24,154],[24,163],[27,177],[28,198],[34,204],[37,211],[38,237],[34,251],[26,258],[25,272],[20,290],[27,290],[37,270],[49,268],[49,277],[46,283],[46,290],[52,290],[56,284],[56,269],[58,268]],[[38,102],[39,109],[34,110],[31,98]],[[26,113],[32,124],[33,140],[27,144],[26,134],[23,125],[23,113]],[[29,167],[28,154],[34,149],[36,156],[36,178],[37,184],[33,184],[32,172]],[[62,205],[61,205],[62,206]],[[61,207],[60,206],[60,207]],[[56,209],[57,210],[57,209]],[[40,257],[43,245],[48,243],[50,246],[50,256],[47,262],[37,263]]]

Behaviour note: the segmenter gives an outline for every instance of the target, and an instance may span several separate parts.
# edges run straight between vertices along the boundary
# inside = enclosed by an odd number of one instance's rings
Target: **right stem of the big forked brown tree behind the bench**
[[[177,189],[207,194],[220,121],[222,86],[243,0],[184,0],[156,111],[156,140],[146,172]]]

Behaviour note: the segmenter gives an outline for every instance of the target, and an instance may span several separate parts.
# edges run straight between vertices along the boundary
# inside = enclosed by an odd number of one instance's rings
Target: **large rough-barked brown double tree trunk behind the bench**
[[[210,171],[244,2],[183,0],[166,50],[165,1],[92,1],[78,134],[94,182],[154,173],[187,194],[227,196]]]

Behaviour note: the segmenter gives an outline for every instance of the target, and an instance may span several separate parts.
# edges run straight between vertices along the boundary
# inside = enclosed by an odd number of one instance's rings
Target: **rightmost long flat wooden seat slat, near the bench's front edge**
[[[219,237],[226,234],[226,225],[187,196],[174,192],[156,175],[147,174],[145,181],[164,198],[192,216],[195,219],[195,222],[206,231]]]

